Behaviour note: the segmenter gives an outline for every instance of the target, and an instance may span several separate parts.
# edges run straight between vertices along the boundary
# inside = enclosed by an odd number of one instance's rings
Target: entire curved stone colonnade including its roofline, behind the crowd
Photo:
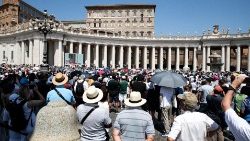
[[[47,38],[49,64],[56,66],[64,66],[65,53],[76,53],[84,54],[88,67],[210,71],[209,56],[216,51],[222,56],[221,71],[250,71],[250,33],[145,38],[74,32],[60,25]],[[0,32],[0,63],[39,65],[43,49],[43,35],[30,23]]]

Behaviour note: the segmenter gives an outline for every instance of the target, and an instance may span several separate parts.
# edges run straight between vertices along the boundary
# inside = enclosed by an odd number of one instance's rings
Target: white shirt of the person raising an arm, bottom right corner
[[[230,108],[225,111],[225,120],[236,141],[250,140],[250,125]]]

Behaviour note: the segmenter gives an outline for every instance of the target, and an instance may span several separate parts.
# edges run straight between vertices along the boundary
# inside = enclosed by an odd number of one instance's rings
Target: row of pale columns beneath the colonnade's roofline
[[[66,42],[66,43],[65,43]],[[0,57],[8,58],[12,64],[42,64],[44,42],[42,39],[27,39],[12,44],[0,44]],[[243,49],[247,49],[243,53]],[[209,56],[215,50],[221,55],[221,71],[230,71],[235,66],[236,71],[242,67],[242,56],[247,55],[247,70],[250,71],[250,46],[249,45],[206,45],[198,46],[144,46],[144,45],[123,45],[123,44],[102,44],[88,42],[73,42],[50,39],[48,41],[49,64],[56,66],[65,65],[65,53],[83,54],[83,64],[87,67],[117,67],[127,66],[143,69],[166,69],[180,70],[180,66],[193,66],[196,71],[201,68],[203,71],[211,71]],[[4,51],[4,52],[3,52]],[[182,52],[182,53],[181,53]],[[14,55],[13,55],[14,54]],[[235,58],[232,58],[232,54]],[[183,56],[183,58],[181,57]],[[14,57],[13,57],[14,56]],[[235,59],[236,63],[231,61]],[[12,61],[11,61],[12,60]],[[3,63],[3,60],[1,60]],[[165,63],[164,63],[165,62]],[[181,64],[182,62],[182,64]]]

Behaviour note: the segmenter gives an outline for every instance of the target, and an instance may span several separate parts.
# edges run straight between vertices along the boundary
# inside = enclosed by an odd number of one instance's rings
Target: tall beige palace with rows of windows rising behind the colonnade
[[[86,6],[86,26],[94,32],[107,31],[118,36],[154,36],[156,5]]]

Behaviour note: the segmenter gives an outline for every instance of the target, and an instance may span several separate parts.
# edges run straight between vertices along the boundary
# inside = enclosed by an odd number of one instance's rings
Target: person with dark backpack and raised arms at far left
[[[7,82],[3,88],[7,88],[4,93],[5,112],[4,120],[8,122],[10,141],[27,141],[35,127],[36,115],[34,107],[45,102],[44,97],[38,91],[37,86],[30,90],[27,78],[20,80],[19,95],[13,93],[14,84]],[[34,93],[32,93],[34,91]],[[33,100],[32,94],[37,94],[39,100]]]

